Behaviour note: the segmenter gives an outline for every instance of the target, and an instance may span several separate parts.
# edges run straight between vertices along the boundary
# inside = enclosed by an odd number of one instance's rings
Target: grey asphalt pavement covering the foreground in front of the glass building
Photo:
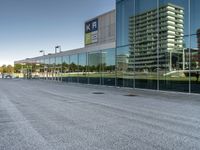
[[[0,150],[157,149],[200,149],[200,95],[0,80]]]

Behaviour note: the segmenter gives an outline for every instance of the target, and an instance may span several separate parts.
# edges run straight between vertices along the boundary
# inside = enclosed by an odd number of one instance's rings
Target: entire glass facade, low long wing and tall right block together
[[[199,0],[116,0],[115,48],[21,67],[42,79],[200,93],[199,6]]]

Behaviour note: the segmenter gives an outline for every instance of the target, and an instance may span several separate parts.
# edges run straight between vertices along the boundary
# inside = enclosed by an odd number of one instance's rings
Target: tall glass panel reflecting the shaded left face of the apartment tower
[[[129,18],[129,68],[135,71],[135,87],[157,89],[158,3],[135,1],[135,15]]]

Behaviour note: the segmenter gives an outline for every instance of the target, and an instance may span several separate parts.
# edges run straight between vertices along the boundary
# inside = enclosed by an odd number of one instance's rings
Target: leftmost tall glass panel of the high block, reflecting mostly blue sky
[[[117,37],[116,37],[116,85],[122,87],[134,87],[133,59],[131,59],[130,47],[130,19],[135,15],[134,0],[117,0]],[[133,51],[133,49],[132,49]]]

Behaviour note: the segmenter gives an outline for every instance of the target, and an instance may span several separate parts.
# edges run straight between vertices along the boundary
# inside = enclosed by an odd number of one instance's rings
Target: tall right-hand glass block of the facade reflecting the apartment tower
[[[200,93],[199,5],[116,0],[117,85]]]

